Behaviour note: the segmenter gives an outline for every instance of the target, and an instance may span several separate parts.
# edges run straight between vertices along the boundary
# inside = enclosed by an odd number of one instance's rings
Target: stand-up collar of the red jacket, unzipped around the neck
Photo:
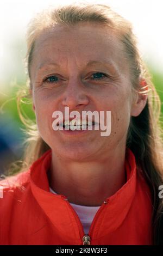
[[[74,212],[67,204],[65,196],[52,194],[49,191],[47,170],[51,165],[51,159],[52,150],[49,149],[30,167],[32,193],[46,216],[51,220],[54,227],[58,229],[59,234],[69,241],[72,235],[73,240],[76,239],[77,242],[81,242],[83,231],[79,228],[79,223],[74,217]],[[128,214],[136,190],[135,156],[129,148],[126,149],[124,167],[126,169],[127,181],[120,190],[105,200],[105,207],[102,209],[93,228],[94,239],[98,239],[116,230]]]

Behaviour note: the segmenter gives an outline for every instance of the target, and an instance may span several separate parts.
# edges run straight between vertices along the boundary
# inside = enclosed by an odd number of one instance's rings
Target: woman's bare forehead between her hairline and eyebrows
[[[81,66],[95,60],[113,63],[120,70],[128,69],[122,42],[107,26],[89,22],[71,27],[56,25],[37,38],[33,54],[36,68],[48,62],[62,65],[73,59]]]

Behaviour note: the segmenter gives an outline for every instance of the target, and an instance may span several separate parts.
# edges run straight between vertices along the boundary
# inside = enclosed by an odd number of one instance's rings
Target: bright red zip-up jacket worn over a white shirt
[[[27,172],[1,180],[1,245],[151,245],[151,192],[135,157],[126,150],[127,182],[97,211],[85,236],[82,223],[64,195],[49,192],[51,150]]]

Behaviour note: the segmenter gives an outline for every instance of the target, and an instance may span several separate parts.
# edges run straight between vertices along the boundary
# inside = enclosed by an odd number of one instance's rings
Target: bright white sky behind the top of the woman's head
[[[68,4],[71,2],[69,0],[1,0],[1,91],[6,87],[6,81],[10,81],[12,84],[18,76],[19,80],[22,79],[22,81],[26,77],[23,58],[26,54],[26,29],[30,19],[49,5],[55,6],[56,4]],[[151,63],[158,72],[163,72],[162,0],[89,0],[87,2],[108,4],[120,15],[131,21],[134,33],[139,41],[139,49],[143,59]]]

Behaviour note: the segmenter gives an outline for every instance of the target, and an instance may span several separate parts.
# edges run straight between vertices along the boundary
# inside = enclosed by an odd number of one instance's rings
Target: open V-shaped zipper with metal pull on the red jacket
[[[64,195],[61,195],[61,197],[62,197],[65,201],[67,201],[68,207],[71,209],[71,211],[73,211],[73,214],[74,214],[74,216],[76,217],[77,223],[78,223],[79,227],[80,227],[81,230],[82,230],[82,236],[80,236],[80,237],[81,237],[81,240],[82,240],[82,244],[83,244],[83,245],[90,245],[90,243],[91,243],[91,237],[92,237],[92,232],[93,232],[93,228],[94,228],[94,226],[95,226],[95,223],[96,223],[96,221],[98,220],[99,214],[101,213],[101,211],[103,210],[103,208],[105,207],[105,205],[108,203],[108,200],[109,200],[109,199],[106,199],[106,200],[103,202],[103,204],[101,205],[101,207],[97,210],[97,212],[96,212],[96,214],[95,214],[95,216],[94,216],[94,218],[93,218],[93,221],[92,221],[92,223],[91,223],[91,226],[90,226],[90,229],[89,229],[89,233],[88,233],[88,234],[85,234],[85,233],[84,233],[84,228],[83,228],[82,222],[80,221],[79,216],[77,215],[77,212],[73,209],[73,207],[71,206],[70,202],[68,202],[67,197],[65,197]]]

